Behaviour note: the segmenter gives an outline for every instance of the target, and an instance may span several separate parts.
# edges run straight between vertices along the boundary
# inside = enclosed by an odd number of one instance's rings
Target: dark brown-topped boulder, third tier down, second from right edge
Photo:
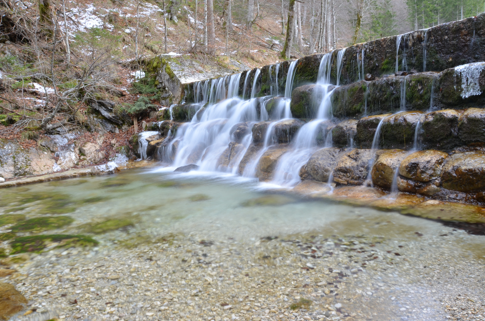
[[[451,150],[461,144],[458,138],[458,119],[462,111],[444,109],[426,114],[422,118],[422,144],[424,148]]]

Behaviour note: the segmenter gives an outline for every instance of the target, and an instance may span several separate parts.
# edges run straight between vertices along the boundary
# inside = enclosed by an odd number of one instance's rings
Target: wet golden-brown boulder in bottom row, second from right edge
[[[447,153],[438,150],[414,152],[401,162],[399,174],[416,181],[429,182],[440,177],[443,162],[447,157]]]

